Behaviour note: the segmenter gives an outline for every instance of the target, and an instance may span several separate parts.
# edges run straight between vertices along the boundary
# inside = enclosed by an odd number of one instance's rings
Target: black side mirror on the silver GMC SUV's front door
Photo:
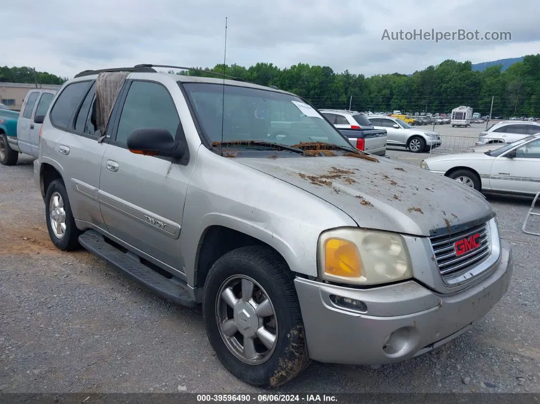
[[[166,129],[136,129],[127,136],[127,148],[135,154],[181,159],[186,147],[184,142],[175,141]]]

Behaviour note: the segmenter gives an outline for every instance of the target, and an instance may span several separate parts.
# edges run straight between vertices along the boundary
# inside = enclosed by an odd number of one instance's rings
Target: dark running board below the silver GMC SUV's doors
[[[197,306],[185,287],[160,275],[148,266],[140,263],[130,252],[124,253],[105,241],[95,230],[86,230],[79,236],[79,243],[86,250],[93,252],[116,269],[125,272],[130,278],[157,295],[187,307]]]

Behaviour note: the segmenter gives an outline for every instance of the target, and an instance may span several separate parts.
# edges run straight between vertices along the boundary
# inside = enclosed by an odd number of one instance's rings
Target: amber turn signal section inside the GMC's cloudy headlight
[[[361,277],[362,259],[356,245],[340,238],[329,238],[325,243],[325,272],[345,278]]]

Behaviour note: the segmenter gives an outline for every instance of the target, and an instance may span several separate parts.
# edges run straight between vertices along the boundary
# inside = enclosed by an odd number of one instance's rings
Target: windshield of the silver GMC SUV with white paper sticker
[[[288,146],[325,142],[351,148],[318,111],[294,95],[212,83],[183,86],[210,142],[265,141]]]

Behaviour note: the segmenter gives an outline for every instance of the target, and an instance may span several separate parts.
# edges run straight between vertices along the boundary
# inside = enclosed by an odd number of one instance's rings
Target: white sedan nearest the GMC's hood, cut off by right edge
[[[540,134],[485,153],[448,154],[420,167],[481,192],[535,195],[540,191]]]

